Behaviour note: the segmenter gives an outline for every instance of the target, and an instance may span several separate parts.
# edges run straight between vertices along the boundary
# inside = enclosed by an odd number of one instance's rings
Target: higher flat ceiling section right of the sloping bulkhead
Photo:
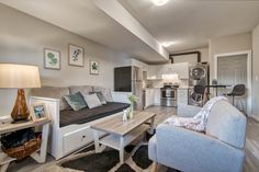
[[[259,24],[258,0],[119,0],[170,53],[209,45],[213,37],[250,32]]]

